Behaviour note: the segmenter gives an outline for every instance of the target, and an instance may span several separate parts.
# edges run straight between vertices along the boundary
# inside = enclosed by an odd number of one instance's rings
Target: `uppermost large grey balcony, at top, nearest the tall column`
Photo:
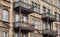
[[[23,1],[17,1],[14,2],[14,9],[19,10],[21,8],[21,11],[24,11],[26,13],[32,13],[34,10],[34,7],[26,2]]]

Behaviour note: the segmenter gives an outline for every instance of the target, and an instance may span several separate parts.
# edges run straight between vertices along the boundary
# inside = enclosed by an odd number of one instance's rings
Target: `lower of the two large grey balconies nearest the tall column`
[[[34,25],[20,21],[20,22],[15,22],[14,23],[14,30],[15,31],[34,31]]]

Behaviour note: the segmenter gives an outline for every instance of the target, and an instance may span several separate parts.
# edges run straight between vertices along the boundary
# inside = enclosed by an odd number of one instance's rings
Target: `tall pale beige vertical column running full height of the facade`
[[[10,0],[10,30],[9,30],[9,37],[13,37],[13,0]]]

